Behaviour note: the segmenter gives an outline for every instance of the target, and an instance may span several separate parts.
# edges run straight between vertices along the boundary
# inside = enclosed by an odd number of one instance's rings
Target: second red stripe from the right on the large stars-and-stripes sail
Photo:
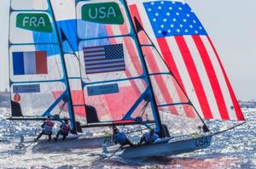
[[[194,39],[195,46],[201,55],[201,60],[207,70],[207,76],[208,76],[209,81],[212,86],[212,92],[213,92],[216,102],[218,104],[219,114],[223,120],[230,120],[230,116],[229,116],[228,110],[226,108],[224,96],[223,96],[223,93],[219,86],[218,79],[217,79],[215,70],[212,65],[212,61],[209,57],[209,54],[207,53],[207,48],[205,47],[204,43],[202,42],[200,36],[192,36],[192,37]]]

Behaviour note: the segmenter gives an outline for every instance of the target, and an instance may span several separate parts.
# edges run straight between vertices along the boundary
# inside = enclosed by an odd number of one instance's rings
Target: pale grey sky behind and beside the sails
[[[256,99],[256,1],[187,0],[217,48],[237,99]],[[0,90],[9,87],[9,0],[0,3]]]

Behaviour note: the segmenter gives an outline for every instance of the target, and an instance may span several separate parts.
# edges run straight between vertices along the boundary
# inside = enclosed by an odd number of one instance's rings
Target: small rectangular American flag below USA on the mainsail
[[[125,70],[123,44],[84,48],[86,74]]]

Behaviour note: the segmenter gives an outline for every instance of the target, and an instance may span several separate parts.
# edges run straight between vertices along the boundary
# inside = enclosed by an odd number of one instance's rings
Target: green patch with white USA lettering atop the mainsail
[[[82,7],[82,20],[122,25],[124,17],[117,3],[90,3]]]

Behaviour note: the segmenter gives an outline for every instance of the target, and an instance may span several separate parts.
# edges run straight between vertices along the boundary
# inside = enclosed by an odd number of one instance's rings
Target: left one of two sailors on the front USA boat
[[[113,126],[113,141],[115,144],[120,144],[121,146],[126,144],[129,144],[130,146],[134,145],[131,143],[130,139],[125,136],[125,133],[119,132],[118,127],[115,126]]]

